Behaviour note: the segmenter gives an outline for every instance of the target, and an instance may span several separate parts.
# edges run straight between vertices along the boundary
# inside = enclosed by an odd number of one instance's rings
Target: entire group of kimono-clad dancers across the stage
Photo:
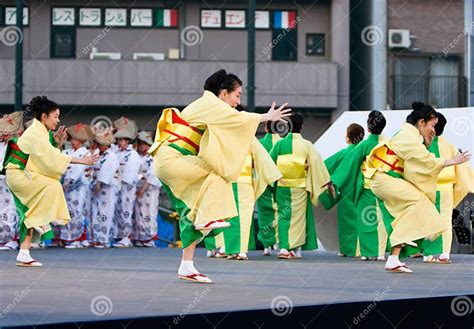
[[[302,115],[286,103],[264,114],[243,111],[241,93],[237,76],[214,73],[202,97],[182,111],[163,110],[154,140],[127,118],[114,131],[57,129],[59,107],[44,96],[30,102],[35,118],[24,132],[15,128],[21,114],[4,117],[3,126],[12,127],[2,135],[1,201],[16,207],[2,215],[3,248],[15,249],[18,236],[17,265],[41,266],[31,243],[54,231],[66,248],[152,246],[163,188],[179,214],[183,280],[212,283],[194,267],[201,242],[208,257],[235,260],[248,259],[255,236],[264,255],[276,250],[281,259],[317,249],[318,203],[337,206],[340,256],[386,261],[398,273],[412,272],[404,256],[451,262],[451,213],[474,192],[474,180],[470,154],[441,136],[441,113],[415,102],[400,131],[384,138],[386,119],[372,111],[368,137],[351,124],[348,146],[323,160],[301,135]],[[276,123],[288,126],[284,136]],[[67,137],[71,147],[61,151]]]

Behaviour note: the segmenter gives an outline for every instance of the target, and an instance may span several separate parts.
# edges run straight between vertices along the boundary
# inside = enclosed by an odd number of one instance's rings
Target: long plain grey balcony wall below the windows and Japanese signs
[[[24,61],[24,101],[37,94],[60,104],[187,105],[202,95],[205,79],[225,67],[244,81],[246,63],[211,61]],[[256,67],[256,106],[337,107],[337,65],[273,63]],[[14,61],[0,60],[0,104],[13,101]],[[246,103],[245,93],[243,103]]]

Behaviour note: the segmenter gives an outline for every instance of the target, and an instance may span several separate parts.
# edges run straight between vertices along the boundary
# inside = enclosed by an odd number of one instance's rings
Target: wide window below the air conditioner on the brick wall
[[[435,107],[460,106],[462,81],[457,57],[400,57],[394,64],[395,109],[409,109],[414,101]]]

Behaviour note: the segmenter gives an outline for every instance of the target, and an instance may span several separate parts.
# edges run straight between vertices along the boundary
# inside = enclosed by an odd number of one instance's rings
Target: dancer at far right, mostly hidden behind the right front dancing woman
[[[441,113],[437,114],[438,123],[435,126],[436,136],[425,140],[428,151],[437,158],[452,158],[457,153],[456,147],[448,143],[441,135],[447,123]],[[425,263],[450,264],[449,254],[453,240],[452,213],[453,209],[466,197],[474,192],[474,175],[469,163],[444,168],[438,175],[436,183],[436,208],[440,212],[441,220],[449,226],[440,237],[434,241],[423,242],[423,261]],[[435,255],[439,255],[436,257]]]

